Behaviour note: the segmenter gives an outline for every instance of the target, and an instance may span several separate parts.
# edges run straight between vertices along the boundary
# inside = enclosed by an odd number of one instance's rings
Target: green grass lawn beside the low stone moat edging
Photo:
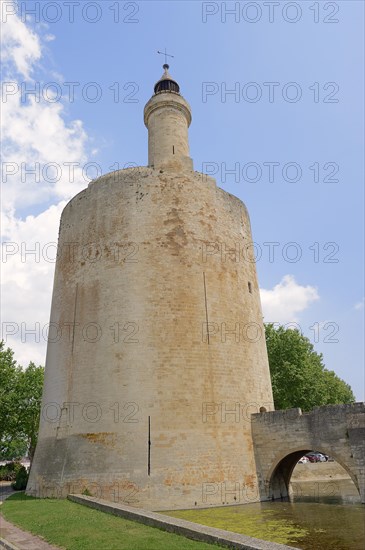
[[[21,529],[67,550],[212,550],[215,545],[125,520],[69,500],[10,496],[1,514]]]

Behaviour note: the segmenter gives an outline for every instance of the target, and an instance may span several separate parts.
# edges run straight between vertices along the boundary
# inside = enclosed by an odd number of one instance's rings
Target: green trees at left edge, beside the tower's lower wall
[[[32,460],[38,435],[44,368],[23,370],[14,352],[0,342],[0,456],[14,459],[28,451]]]

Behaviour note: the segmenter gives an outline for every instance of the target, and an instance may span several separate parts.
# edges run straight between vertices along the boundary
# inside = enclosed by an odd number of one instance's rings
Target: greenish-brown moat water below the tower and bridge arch
[[[350,480],[292,483],[289,501],[168,512],[302,550],[363,550],[365,506]]]

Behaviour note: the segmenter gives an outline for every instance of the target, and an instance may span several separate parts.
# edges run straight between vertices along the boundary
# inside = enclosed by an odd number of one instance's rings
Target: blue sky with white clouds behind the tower
[[[65,204],[147,164],[166,47],[195,169],[249,209],[265,321],[297,323],[362,400],[363,2],[1,8],[2,337],[17,360],[45,361]]]

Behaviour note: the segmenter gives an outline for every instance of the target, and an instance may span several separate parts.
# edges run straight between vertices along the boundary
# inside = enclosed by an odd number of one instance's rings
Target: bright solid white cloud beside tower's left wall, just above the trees
[[[44,364],[58,226],[65,202],[25,220],[7,215],[2,245],[2,337],[23,366]],[[35,330],[35,334],[31,331]],[[28,332],[29,331],[29,332]]]

